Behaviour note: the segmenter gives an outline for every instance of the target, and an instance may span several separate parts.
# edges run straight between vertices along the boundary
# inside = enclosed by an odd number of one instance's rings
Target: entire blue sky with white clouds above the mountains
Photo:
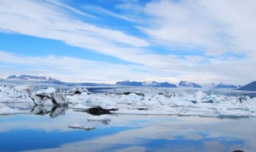
[[[246,85],[254,0],[0,0],[0,77]]]

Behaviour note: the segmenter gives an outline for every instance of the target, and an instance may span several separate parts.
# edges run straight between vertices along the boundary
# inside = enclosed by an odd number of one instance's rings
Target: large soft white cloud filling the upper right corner
[[[209,55],[232,49],[255,49],[255,1],[153,1],[143,32],[171,48],[204,47]]]

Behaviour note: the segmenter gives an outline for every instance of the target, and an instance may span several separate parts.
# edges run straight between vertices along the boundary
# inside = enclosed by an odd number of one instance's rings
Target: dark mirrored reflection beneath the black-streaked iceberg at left
[[[54,107],[48,107],[48,106],[40,106],[36,105],[33,107],[33,109],[30,111],[31,114],[37,114],[44,116],[46,114],[49,114],[50,118],[54,119],[58,116],[64,116],[66,111],[68,109],[68,105],[65,106],[54,106]]]

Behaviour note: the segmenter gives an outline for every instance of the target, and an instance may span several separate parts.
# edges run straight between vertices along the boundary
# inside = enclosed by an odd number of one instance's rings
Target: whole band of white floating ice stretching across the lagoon
[[[111,114],[154,114],[201,117],[256,117],[255,92],[228,89],[108,88],[89,92],[86,88],[39,88],[0,86],[0,114],[64,115],[67,109],[83,111],[101,107]],[[10,106],[11,104],[19,106]],[[29,109],[30,108],[30,109]],[[89,120],[106,120],[94,116]]]

